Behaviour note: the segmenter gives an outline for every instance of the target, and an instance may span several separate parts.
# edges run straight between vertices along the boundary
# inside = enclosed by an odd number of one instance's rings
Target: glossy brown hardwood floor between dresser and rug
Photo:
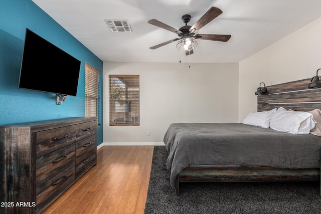
[[[144,213],[153,146],[103,146],[92,167],[42,213]]]

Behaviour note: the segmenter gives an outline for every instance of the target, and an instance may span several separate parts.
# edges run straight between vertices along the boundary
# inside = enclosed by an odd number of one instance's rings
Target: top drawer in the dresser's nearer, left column
[[[37,157],[73,143],[76,139],[77,125],[49,129],[36,133]]]

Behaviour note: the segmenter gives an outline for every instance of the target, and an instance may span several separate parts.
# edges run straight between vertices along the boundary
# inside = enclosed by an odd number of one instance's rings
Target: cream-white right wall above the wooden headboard
[[[239,121],[257,110],[254,95],[266,86],[312,78],[321,68],[321,18],[239,63]],[[321,75],[321,73],[319,73]]]

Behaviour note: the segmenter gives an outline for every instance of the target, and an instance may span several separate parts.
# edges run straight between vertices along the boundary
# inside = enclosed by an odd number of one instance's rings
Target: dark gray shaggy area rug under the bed
[[[155,146],[145,214],[321,213],[319,182],[197,182],[171,187],[165,146]]]

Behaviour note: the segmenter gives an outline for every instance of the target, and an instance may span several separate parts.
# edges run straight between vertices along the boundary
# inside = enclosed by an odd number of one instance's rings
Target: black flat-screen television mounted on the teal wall
[[[19,88],[76,96],[80,63],[27,29]]]

